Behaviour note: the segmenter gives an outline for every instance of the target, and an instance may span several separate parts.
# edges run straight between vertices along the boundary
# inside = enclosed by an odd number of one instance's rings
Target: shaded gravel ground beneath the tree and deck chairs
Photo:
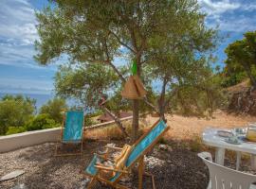
[[[85,141],[82,157],[54,157],[54,143],[30,146],[12,152],[0,154],[0,177],[15,169],[26,173],[16,179],[0,182],[0,188],[15,188],[24,184],[27,189],[45,188],[86,188],[87,179],[81,174],[92,159],[93,153],[108,143],[119,141]],[[172,145],[173,146],[173,145]],[[209,180],[208,169],[189,149],[168,146],[162,149],[158,145],[145,159],[146,170],[155,175],[155,186],[161,189],[205,189]],[[234,167],[234,162],[228,162]],[[243,166],[247,167],[247,166]],[[137,172],[130,179],[122,180],[130,188],[137,188]],[[95,188],[109,187],[97,183]],[[152,188],[150,178],[144,177],[143,188]]]

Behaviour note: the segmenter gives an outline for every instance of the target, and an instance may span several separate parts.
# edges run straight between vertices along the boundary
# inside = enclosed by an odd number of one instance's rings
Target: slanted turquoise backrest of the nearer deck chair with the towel
[[[136,163],[137,160],[143,156],[147,150],[149,150],[155,143],[160,139],[164,132],[169,129],[166,123],[163,120],[158,120],[153,128],[151,128],[142,138],[135,144],[132,152],[130,153],[127,162],[125,163],[126,167],[130,167],[133,163]],[[117,180],[120,174],[116,174],[111,180]]]

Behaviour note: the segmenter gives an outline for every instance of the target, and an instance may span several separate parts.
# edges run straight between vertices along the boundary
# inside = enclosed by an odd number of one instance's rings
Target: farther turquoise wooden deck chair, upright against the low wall
[[[56,144],[55,156],[69,156],[82,154],[82,136],[83,136],[83,112],[69,111],[65,112],[64,123],[61,131],[61,140]],[[60,145],[75,145],[80,144],[80,152],[61,153],[58,149]]]

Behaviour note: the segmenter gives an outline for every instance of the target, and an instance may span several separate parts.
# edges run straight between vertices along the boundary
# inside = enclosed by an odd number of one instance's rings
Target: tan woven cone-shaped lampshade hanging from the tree
[[[145,94],[147,94],[147,92],[137,75],[128,78],[121,92],[122,97],[128,99],[141,99]]]

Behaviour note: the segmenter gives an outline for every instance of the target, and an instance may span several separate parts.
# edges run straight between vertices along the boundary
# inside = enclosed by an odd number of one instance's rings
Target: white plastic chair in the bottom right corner
[[[256,189],[256,185],[251,184],[256,181],[256,175],[212,163],[209,152],[199,153],[198,156],[206,163],[210,172],[208,189]]]

